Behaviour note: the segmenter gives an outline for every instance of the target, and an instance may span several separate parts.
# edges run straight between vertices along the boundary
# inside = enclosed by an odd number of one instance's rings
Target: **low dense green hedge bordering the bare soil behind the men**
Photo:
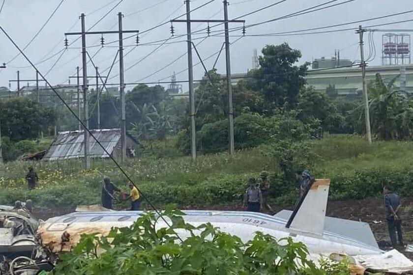
[[[176,203],[188,205],[218,205],[241,203],[247,179],[250,174],[215,174],[199,177],[198,183],[151,181],[139,185],[152,203],[157,206]],[[323,175],[316,175],[321,178]],[[196,178],[196,177],[195,177]],[[195,179],[194,178],[194,179]],[[352,173],[337,174],[331,177],[329,199],[363,199],[380,197],[384,185],[391,185],[402,197],[413,197],[411,188],[413,170],[363,169]],[[271,175],[271,202],[293,204],[298,197],[297,183],[285,183],[276,174]],[[126,185],[120,186],[127,191]],[[67,207],[78,204],[95,204],[100,202],[100,182],[72,182],[34,191],[4,190],[0,194],[0,204],[13,204],[15,200],[33,199],[38,207]],[[122,202],[127,207],[128,202]]]

